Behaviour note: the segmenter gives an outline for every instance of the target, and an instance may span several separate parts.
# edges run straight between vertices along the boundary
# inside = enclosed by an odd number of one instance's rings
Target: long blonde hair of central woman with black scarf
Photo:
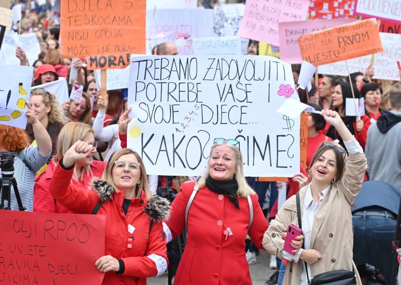
[[[243,159],[242,159],[242,154],[241,151],[238,147],[233,146],[231,144],[228,144],[227,141],[223,141],[222,143],[218,143],[213,145],[209,157],[212,155],[213,149],[216,147],[227,147],[234,152],[234,158],[235,158],[235,180],[238,182],[238,190],[237,190],[237,195],[246,198],[248,195],[253,195],[255,194],[255,191],[251,188],[251,186],[248,185],[245,176],[244,176],[244,169],[243,169]],[[209,177],[209,167],[206,168],[204,174],[202,177],[199,179],[197,182],[196,186],[199,188],[204,188],[206,186],[206,179]]]

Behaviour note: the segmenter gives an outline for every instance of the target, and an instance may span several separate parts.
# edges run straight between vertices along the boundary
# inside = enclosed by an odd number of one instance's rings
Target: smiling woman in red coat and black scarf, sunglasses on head
[[[245,240],[249,234],[262,248],[268,223],[258,195],[245,180],[238,141],[216,138],[214,143],[205,173],[198,182],[181,185],[166,221],[168,239],[187,230],[174,285],[252,284]]]

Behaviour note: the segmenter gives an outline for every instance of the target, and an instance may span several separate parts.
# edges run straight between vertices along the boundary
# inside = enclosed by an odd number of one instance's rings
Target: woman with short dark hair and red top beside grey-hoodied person
[[[360,89],[360,94],[365,99],[365,108],[371,122],[377,121],[378,117],[381,115],[379,105],[382,93],[383,90],[376,83],[366,83]]]

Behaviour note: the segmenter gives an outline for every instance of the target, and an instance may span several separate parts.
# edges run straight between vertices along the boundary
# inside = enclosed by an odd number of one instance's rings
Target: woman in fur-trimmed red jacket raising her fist
[[[151,198],[141,158],[130,149],[116,151],[107,163],[103,180],[92,190],[70,183],[74,165],[95,152],[78,140],[59,160],[50,193],[78,214],[106,216],[105,254],[93,260],[105,272],[102,284],[146,284],[146,277],[167,268],[166,241],[161,221],[168,217],[166,199]]]

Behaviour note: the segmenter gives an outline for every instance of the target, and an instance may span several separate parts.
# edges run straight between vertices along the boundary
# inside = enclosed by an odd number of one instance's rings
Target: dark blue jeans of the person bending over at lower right
[[[373,263],[383,274],[386,284],[390,284],[394,256],[391,242],[395,236],[396,222],[388,217],[352,217],[355,264]]]

